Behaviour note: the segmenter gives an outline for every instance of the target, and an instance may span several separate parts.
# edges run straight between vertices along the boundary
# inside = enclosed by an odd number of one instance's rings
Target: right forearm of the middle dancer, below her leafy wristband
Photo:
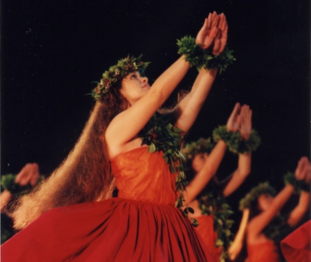
[[[250,153],[240,153],[238,155],[238,168],[234,171],[234,174],[225,189],[223,189],[224,196],[229,196],[242,185],[251,171],[251,162],[252,155]]]

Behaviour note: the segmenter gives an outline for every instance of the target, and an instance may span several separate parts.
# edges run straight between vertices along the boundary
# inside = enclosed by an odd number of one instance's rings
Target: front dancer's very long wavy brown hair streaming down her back
[[[14,227],[21,230],[54,207],[111,198],[115,188],[105,140],[106,129],[129,102],[121,83],[97,100],[75,147],[53,173],[15,203]]]

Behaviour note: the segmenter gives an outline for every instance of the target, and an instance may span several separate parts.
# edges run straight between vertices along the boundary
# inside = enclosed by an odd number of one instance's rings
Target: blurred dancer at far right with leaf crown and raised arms
[[[299,188],[299,185],[303,187]],[[308,187],[308,191],[305,191]],[[279,212],[295,190],[301,191],[299,203],[285,219],[279,216]],[[279,243],[292,227],[298,225],[310,203],[308,158],[299,160],[294,175],[289,173],[285,176],[285,187],[279,194],[273,197],[273,191],[272,187],[263,183],[241,200],[241,208],[249,208],[249,222],[246,226],[247,262],[282,261]]]

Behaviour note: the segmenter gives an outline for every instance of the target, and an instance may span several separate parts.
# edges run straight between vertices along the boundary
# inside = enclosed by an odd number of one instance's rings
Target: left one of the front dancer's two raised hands
[[[207,49],[213,44],[216,35],[218,35],[219,19],[216,12],[209,13],[209,16],[205,18],[204,24],[196,36],[196,44],[200,44],[202,49]]]

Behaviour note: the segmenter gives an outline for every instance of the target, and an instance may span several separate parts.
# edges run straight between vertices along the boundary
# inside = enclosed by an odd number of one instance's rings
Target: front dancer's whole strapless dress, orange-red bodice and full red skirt
[[[111,167],[117,198],[45,212],[1,246],[1,261],[214,261],[174,206],[162,152],[140,147]]]

